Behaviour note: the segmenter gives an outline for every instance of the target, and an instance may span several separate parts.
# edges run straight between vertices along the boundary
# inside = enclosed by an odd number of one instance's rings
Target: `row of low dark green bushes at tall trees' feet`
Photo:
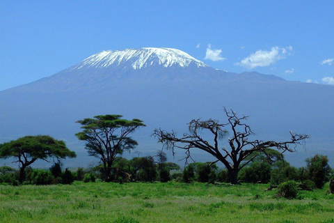
[[[159,156],[162,156],[163,159]],[[219,169],[216,164],[209,162],[193,162],[187,164],[183,169],[173,162],[164,160],[166,154],[134,157],[127,160],[116,157],[111,167],[113,178],[109,182],[163,182],[170,180],[180,183],[230,183],[230,176],[227,169]],[[269,163],[260,158],[250,162],[240,171],[239,183],[270,183],[277,186],[290,180],[303,185],[304,190],[321,188],[330,178],[334,177],[333,170],[328,165],[325,155],[315,155],[306,160],[305,167],[292,167],[282,158]],[[59,162],[54,163],[49,169],[25,169],[24,184],[49,185],[49,184],[70,184],[74,180],[88,182],[104,180],[104,167],[77,169],[63,169]],[[0,183],[18,185],[19,170],[11,167],[0,167]]]

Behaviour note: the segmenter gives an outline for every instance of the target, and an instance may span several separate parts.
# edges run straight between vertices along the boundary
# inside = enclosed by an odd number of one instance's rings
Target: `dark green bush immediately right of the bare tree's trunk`
[[[252,162],[249,167],[241,169],[239,179],[246,183],[268,183],[270,172],[271,166],[268,162]]]

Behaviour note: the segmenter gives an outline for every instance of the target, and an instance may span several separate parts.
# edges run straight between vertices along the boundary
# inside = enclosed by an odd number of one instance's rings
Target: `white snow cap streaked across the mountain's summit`
[[[102,51],[93,56],[89,56],[81,63],[73,66],[72,69],[90,67],[107,68],[110,66],[122,66],[122,68],[125,68],[126,65],[128,65],[136,70],[147,68],[148,66],[159,65],[168,68],[171,66],[186,67],[191,64],[197,67],[208,67],[202,61],[182,52],[180,49],[145,47],[141,49]]]

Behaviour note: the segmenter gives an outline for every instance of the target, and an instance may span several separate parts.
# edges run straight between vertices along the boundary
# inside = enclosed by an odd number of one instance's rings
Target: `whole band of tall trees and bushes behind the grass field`
[[[95,182],[177,182],[193,183],[271,183],[276,186],[289,180],[299,182],[305,189],[321,188],[333,176],[324,155],[315,155],[306,160],[306,166],[297,169],[283,159],[283,153],[293,152],[296,144],[301,144],[308,135],[290,132],[287,141],[261,141],[248,139],[254,136],[253,131],[244,121],[247,116],[237,116],[234,111],[224,109],[227,123],[219,123],[214,119],[201,121],[193,119],[189,123],[189,133],[177,137],[176,133],[165,130],[154,130],[152,134],[158,138],[164,148],[179,148],[186,151],[186,166],[182,170],[173,162],[167,162],[166,153],[162,150],[154,156],[134,157],[127,160],[122,157],[125,151],[132,151],[137,141],[129,134],[141,127],[143,121],[134,118],[131,121],[121,115],[101,115],[77,121],[81,124],[81,132],[76,136],[86,142],[88,155],[97,157],[100,164],[87,169],[65,169],[61,160],[76,157],[65,142],[49,136],[27,136],[15,141],[0,144],[0,157],[14,157],[19,170],[0,167],[0,183],[47,185],[74,180]],[[228,130],[230,128],[231,135]],[[204,134],[207,132],[206,134]],[[205,139],[212,135],[212,139]],[[221,141],[228,137],[230,148],[219,147]],[[292,148],[290,147],[292,146]],[[200,149],[216,158],[214,162],[193,162],[188,164],[193,149]],[[273,149],[276,148],[276,149]],[[47,170],[32,169],[35,160],[49,162],[56,160]],[[217,162],[224,165],[218,169]]]

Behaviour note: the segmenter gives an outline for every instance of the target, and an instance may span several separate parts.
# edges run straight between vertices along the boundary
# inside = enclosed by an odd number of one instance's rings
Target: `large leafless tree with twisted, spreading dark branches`
[[[228,173],[230,174],[231,183],[238,182],[238,174],[240,169],[245,167],[249,162],[252,162],[257,155],[255,152],[261,151],[266,154],[267,148],[277,148],[280,153],[286,151],[293,152],[297,144],[301,144],[305,139],[308,139],[306,134],[295,134],[290,132],[291,139],[288,141],[262,141],[250,140],[248,137],[255,135],[250,129],[250,126],[244,123],[248,116],[237,116],[237,114],[224,108],[225,115],[228,117],[228,123],[219,123],[217,120],[209,119],[201,121],[200,119],[193,119],[188,124],[189,132],[184,133],[182,137],[177,137],[176,132],[166,132],[165,130],[154,130],[152,134],[157,137],[158,141],[163,144],[163,148],[170,148],[175,154],[175,148],[181,148],[186,151],[186,162],[191,158],[191,150],[198,148],[206,153],[213,155],[216,161],[222,162]],[[225,148],[220,146],[220,141],[229,134],[230,128],[232,133],[228,137],[228,146]],[[207,132],[212,135],[211,139],[207,139]],[[209,142],[210,141],[210,142]],[[248,157],[251,157],[247,160]],[[244,162],[243,162],[244,161]],[[242,162],[242,163],[241,163]]]

